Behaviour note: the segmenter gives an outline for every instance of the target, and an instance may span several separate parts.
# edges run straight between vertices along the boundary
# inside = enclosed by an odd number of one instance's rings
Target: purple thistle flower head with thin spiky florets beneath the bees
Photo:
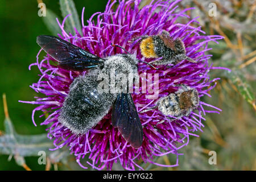
[[[64,22],[59,26],[62,30],[61,39],[70,41],[72,44],[79,46],[93,54],[106,57],[122,53],[122,49],[114,48],[111,43],[125,47],[127,51],[137,55],[137,59],[144,60],[140,51],[138,41],[131,42],[133,38],[143,35],[157,35],[163,30],[170,32],[170,35],[176,39],[183,40],[187,56],[196,60],[197,63],[181,61],[172,68],[159,66],[158,70],[148,67],[144,63],[138,64],[139,74],[141,73],[158,73],[159,74],[159,98],[174,93],[177,88],[175,84],[186,84],[195,88],[199,92],[199,97],[207,95],[208,91],[213,89],[215,78],[210,80],[208,72],[215,69],[208,64],[208,59],[212,55],[207,55],[208,42],[217,43],[222,36],[203,35],[205,32],[200,27],[191,26],[197,23],[196,19],[189,20],[187,24],[177,23],[179,16],[185,16],[186,11],[192,8],[177,11],[177,3],[180,1],[152,1],[150,5],[139,9],[140,1],[120,1],[117,6],[116,1],[108,1],[104,13],[95,13],[85,25],[82,18],[82,34],[76,31],[77,35],[71,35],[64,31]],[[113,6],[117,6],[113,10]],[[157,13],[156,13],[157,12]],[[82,10],[82,17],[84,9]],[[92,20],[97,16],[96,23]],[[66,17],[67,18],[67,17]],[[42,49],[39,51],[39,53]],[[38,53],[38,56],[39,56]],[[32,111],[32,121],[35,124],[35,111],[41,110],[49,113],[47,119],[40,125],[49,125],[48,137],[53,140],[54,149],[68,146],[71,154],[74,154],[77,163],[85,155],[89,156],[87,163],[96,169],[112,169],[113,163],[120,163],[127,170],[142,169],[136,163],[136,160],[142,159],[144,163],[153,163],[164,167],[178,166],[178,150],[189,143],[189,137],[197,136],[195,131],[202,131],[204,127],[202,121],[205,120],[203,115],[206,113],[218,113],[221,111],[217,107],[200,101],[197,110],[192,111],[189,117],[182,117],[176,122],[168,122],[168,118],[160,111],[151,110],[139,114],[143,127],[142,147],[135,149],[123,139],[122,135],[111,124],[111,111],[88,133],[77,136],[61,125],[58,121],[60,108],[64,102],[65,96],[69,92],[69,85],[74,78],[86,72],[67,71],[56,66],[56,60],[47,55],[39,61],[37,56],[36,65],[40,71],[40,78],[37,83],[31,85],[31,88],[45,96],[36,97],[36,101],[21,101],[29,104],[39,104]],[[146,59],[146,61],[151,61]],[[29,67],[29,69],[30,69]],[[156,100],[149,100],[148,93],[133,94],[134,104],[138,111],[146,107],[154,106]],[[212,107],[213,110],[208,110]],[[40,117],[42,117],[41,115]],[[165,122],[159,122],[165,120]],[[157,164],[154,162],[154,156],[163,156],[174,154],[177,157],[176,163],[171,166]],[[84,167],[85,168],[85,167]]]

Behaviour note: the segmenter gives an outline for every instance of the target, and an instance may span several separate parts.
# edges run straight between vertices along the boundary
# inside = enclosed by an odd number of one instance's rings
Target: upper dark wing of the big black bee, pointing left
[[[39,35],[36,42],[64,69],[82,71],[104,64],[100,57],[56,36]]]

